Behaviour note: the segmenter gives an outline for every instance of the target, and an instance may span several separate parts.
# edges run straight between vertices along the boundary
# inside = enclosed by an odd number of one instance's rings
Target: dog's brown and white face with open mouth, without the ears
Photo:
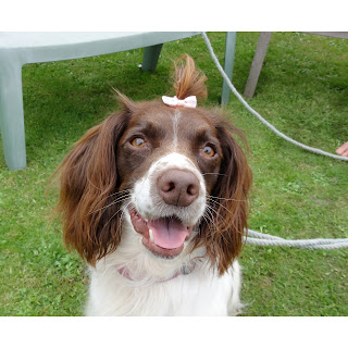
[[[154,256],[178,256],[219,176],[223,153],[212,120],[199,110],[147,103],[133,113],[116,152],[134,229]]]

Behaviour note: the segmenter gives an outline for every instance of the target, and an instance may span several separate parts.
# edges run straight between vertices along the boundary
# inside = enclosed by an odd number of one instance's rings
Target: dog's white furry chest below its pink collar
[[[107,273],[92,274],[87,314],[226,315],[233,290],[228,274],[217,278],[194,272],[139,287],[127,282]]]

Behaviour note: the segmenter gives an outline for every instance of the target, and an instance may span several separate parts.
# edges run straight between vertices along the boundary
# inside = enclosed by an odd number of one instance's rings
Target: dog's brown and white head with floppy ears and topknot
[[[204,97],[204,80],[186,57],[176,97]],[[61,165],[66,245],[90,264],[117,248],[159,262],[204,250],[224,273],[247,226],[251,172],[234,138],[243,135],[202,108],[119,99],[123,110],[87,132]]]

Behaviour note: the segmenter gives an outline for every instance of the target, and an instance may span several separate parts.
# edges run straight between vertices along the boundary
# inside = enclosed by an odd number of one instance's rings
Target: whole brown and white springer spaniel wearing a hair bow
[[[251,172],[185,55],[176,97],[133,102],[60,166],[64,241],[89,264],[87,315],[233,315]],[[245,140],[244,140],[245,141]]]

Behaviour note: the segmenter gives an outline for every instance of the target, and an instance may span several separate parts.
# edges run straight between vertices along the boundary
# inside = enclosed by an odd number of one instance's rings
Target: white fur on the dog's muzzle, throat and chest
[[[163,171],[181,169],[194,173],[200,183],[198,198],[189,207],[170,207],[154,186]],[[206,210],[204,181],[195,164],[181,153],[170,153],[151,165],[134,186],[123,208],[123,233],[117,249],[90,268],[87,315],[235,315],[239,312],[240,269],[237,261],[223,276],[203,258],[204,249],[190,252],[189,240],[174,259],[153,256],[132,225],[128,203],[145,217],[174,213],[189,225],[199,222]],[[198,233],[198,231],[194,232]],[[128,279],[119,270],[126,268]],[[189,274],[176,276],[183,268]]]

